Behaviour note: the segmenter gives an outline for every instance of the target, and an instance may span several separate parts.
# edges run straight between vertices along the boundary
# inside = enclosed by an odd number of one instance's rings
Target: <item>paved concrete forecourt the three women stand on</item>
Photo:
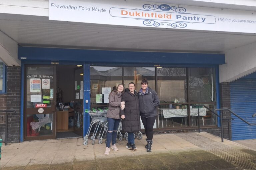
[[[207,132],[154,135],[152,152],[146,152],[145,136],[135,139],[136,151],[126,140],[118,141],[119,151],[106,145],[83,145],[82,138],[13,143],[2,146],[1,170],[87,170],[87,169],[169,169],[242,170],[256,169],[256,151],[243,144],[224,140]]]

